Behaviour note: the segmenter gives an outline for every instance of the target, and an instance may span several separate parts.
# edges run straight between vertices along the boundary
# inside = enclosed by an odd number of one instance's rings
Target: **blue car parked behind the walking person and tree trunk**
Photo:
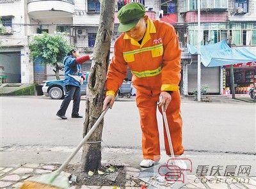
[[[86,84],[89,72],[84,72],[86,75],[86,79],[81,85],[81,95],[86,95]],[[64,79],[61,80],[49,80],[44,82],[44,86],[42,87],[42,91],[44,95],[50,96],[52,99],[61,99],[64,98],[66,90],[64,86]],[[131,82],[123,82],[122,86],[118,89],[118,96],[127,98],[131,98],[132,87]]]

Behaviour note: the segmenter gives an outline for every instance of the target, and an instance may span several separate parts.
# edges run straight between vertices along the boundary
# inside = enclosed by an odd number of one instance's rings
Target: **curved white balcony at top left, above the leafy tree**
[[[74,0],[28,0],[28,13],[34,19],[72,17]]]

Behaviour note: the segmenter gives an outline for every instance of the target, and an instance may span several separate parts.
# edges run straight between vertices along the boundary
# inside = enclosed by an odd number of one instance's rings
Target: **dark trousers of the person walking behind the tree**
[[[68,109],[68,105],[73,98],[73,109],[72,116],[77,116],[79,111],[79,105],[81,100],[81,87],[77,86],[65,86],[66,87],[66,95],[61,103],[60,110],[58,110],[57,114],[60,116],[65,116],[66,111]]]

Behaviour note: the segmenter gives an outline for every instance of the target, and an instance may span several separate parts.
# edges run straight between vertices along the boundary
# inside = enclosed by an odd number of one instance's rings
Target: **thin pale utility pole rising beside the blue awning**
[[[201,101],[201,19],[200,19],[201,1],[197,0],[197,28],[198,28],[198,42],[197,42],[197,101]]]

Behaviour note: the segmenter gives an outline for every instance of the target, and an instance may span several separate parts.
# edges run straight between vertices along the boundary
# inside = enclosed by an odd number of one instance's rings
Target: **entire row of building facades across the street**
[[[182,94],[191,93],[196,88],[197,59],[188,53],[186,44],[198,42],[197,0],[116,0],[111,52],[120,34],[116,13],[131,2],[144,4],[151,19],[163,20],[175,27],[182,47],[180,89]],[[202,45],[228,40],[232,48],[246,47],[256,52],[256,0],[200,2]],[[54,79],[49,66],[29,59],[28,43],[37,33],[64,34],[81,54],[92,54],[99,26],[99,0],[0,0],[0,6],[1,20],[6,27],[6,33],[1,34],[0,50],[0,75],[4,82],[40,83]],[[83,70],[90,70],[90,66],[90,63],[84,64]],[[201,68],[202,85],[208,85],[210,93],[221,94],[223,87],[228,86],[223,77],[228,68],[205,68],[203,65]],[[131,79],[130,72],[127,79]]]

